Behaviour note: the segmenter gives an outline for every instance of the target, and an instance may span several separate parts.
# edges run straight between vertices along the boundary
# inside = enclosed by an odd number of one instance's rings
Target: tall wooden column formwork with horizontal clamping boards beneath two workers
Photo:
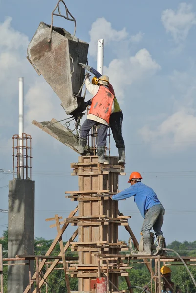
[[[110,195],[118,192],[118,176],[125,175],[118,165],[118,157],[108,156],[109,165],[98,163],[97,156],[81,156],[72,163],[72,175],[78,175],[79,191],[65,192],[72,200],[78,200],[79,215],[74,216],[72,225],[78,226],[78,242],[72,243],[72,251],[78,251],[79,264],[73,268],[72,277],[79,278],[79,292],[92,291],[98,277],[98,258],[94,253],[118,254],[124,243],[118,241],[118,226],[128,225],[127,218],[118,215],[118,201]],[[68,220],[68,219],[67,219]],[[109,280],[118,287],[118,276],[125,275],[124,269],[101,261],[101,276],[109,274]],[[91,288],[92,287],[92,288]],[[109,282],[109,291],[116,291]]]

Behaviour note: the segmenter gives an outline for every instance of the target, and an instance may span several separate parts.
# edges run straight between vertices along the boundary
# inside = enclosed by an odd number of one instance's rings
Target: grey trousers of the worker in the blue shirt
[[[155,205],[148,209],[145,214],[142,226],[142,234],[144,238],[150,238],[150,230],[153,228],[156,236],[163,235],[161,227],[163,225],[164,208],[161,204]]]

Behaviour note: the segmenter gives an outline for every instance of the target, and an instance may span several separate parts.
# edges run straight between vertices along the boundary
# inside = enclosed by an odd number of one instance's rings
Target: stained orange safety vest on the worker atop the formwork
[[[97,94],[92,98],[92,105],[88,114],[95,115],[109,124],[114,95],[105,86],[100,86]]]

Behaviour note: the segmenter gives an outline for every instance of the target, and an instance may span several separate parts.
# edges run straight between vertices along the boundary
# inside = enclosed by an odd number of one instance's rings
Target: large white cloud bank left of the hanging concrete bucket
[[[32,125],[32,120],[43,121],[53,117],[58,119],[60,112],[65,113],[53,90],[42,76],[38,77],[26,59],[30,41],[26,35],[11,27],[11,20],[11,17],[7,17],[3,23],[0,23],[0,133],[4,145],[6,145],[5,141],[9,141],[9,138],[18,130],[19,76],[24,77],[26,92],[24,102],[25,131],[29,131],[28,133],[33,135],[34,142],[39,132],[40,134],[42,132]],[[12,134],[10,135],[10,133]]]

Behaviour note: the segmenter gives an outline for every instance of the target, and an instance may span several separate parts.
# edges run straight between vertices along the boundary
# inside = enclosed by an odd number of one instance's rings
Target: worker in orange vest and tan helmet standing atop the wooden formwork
[[[96,125],[98,162],[101,164],[109,164],[109,161],[104,158],[104,153],[109,119],[110,115],[114,112],[114,95],[109,90],[109,77],[107,75],[100,76],[97,85],[90,82],[89,76],[90,74],[86,73],[85,85],[87,90],[93,95],[92,105],[87,119],[81,126],[78,151],[81,154],[84,153],[87,144],[87,135],[90,129]]]

